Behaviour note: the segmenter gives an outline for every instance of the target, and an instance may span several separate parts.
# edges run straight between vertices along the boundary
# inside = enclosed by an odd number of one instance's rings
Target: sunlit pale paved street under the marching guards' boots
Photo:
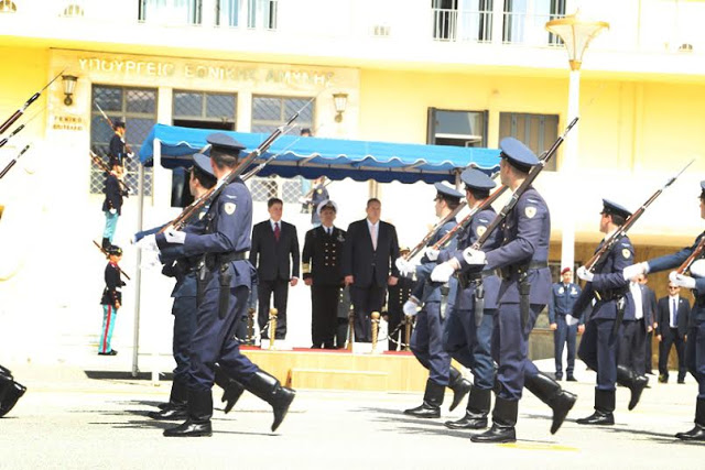
[[[692,427],[695,384],[654,384],[636,411],[617,394],[617,425],[567,422],[549,434],[549,411],[532,395],[520,405],[513,445],[476,445],[441,420],[405,417],[421,393],[300,391],[276,434],[268,406],[245,394],[235,412],[216,411],[210,438],[167,439],[145,416],[167,397],[160,386],[79,368],[13,367],[30,391],[0,420],[0,468],[697,468],[705,446],[672,438]],[[107,376],[107,378],[106,378]],[[110,378],[112,376],[112,378]],[[570,384],[579,400],[570,419],[592,411],[593,376]],[[652,378],[653,380],[653,378]],[[216,394],[219,398],[219,392]],[[447,412],[456,417],[460,411]],[[217,405],[219,407],[219,405]]]

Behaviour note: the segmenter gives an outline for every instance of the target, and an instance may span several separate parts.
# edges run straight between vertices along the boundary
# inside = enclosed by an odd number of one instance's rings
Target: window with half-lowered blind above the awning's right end
[[[429,108],[426,140],[436,145],[487,146],[487,111]]]

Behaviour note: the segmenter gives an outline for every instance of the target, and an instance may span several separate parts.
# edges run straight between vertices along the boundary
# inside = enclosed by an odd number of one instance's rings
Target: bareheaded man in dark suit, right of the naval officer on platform
[[[399,258],[397,229],[382,222],[382,204],[377,198],[367,201],[367,218],[350,223],[343,247],[343,275],[350,285],[350,299],[355,306],[355,340],[370,342],[370,315],[380,311],[387,295],[387,285],[397,285]],[[391,269],[391,273],[390,273]]]

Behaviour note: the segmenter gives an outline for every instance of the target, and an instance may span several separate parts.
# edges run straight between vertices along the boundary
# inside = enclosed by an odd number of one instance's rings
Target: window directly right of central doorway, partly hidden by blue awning
[[[296,111],[300,111],[295,121],[299,128],[313,129],[315,101],[301,109],[308,100],[310,98],[252,97],[252,132],[270,133],[289,121]],[[284,203],[297,203],[299,198],[303,196],[304,186],[305,182],[301,178],[254,177],[250,185],[250,192],[253,200],[261,201],[278,196]]]

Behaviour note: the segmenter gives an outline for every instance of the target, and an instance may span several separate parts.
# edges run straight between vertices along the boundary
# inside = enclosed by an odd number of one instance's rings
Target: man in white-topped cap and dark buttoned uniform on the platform
[[[338,302],[343,287],[340,260],[345,230],[333,226],[338,206],[324,200],[316,207],[322,225],[306,232],[302,253],[304,283],[311,286],[312,348],[335,349]]]

